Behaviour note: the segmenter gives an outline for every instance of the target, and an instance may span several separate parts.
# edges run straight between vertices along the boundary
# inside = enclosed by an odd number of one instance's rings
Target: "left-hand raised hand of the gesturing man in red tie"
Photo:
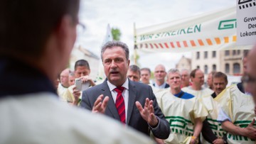
[[[107,108],[107,102],[109,101],[110,97],[105,96],[103,99],[103,94],[100,94],[100,96],[96,99],[95,104],[92,107],[92,113],[105,113],[105,110]]]

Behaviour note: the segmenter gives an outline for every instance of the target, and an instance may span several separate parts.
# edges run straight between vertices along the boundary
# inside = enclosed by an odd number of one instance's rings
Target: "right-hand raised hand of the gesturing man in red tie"
[[[144,108],[142,108],[142,104],[139,103],[139,101],[136,101],[136,106],[139,109],[139,113],[141,114],[142,118],[149,123],[149,126],[156,127],[158,123],[158,119],[154,115],[154,106],[153,101],[149,101],[148,98],[146,98],[146,102],[144,105]]]

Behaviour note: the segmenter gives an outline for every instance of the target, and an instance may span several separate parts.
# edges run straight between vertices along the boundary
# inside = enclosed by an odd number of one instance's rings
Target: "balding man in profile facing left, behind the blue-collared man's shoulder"
[[[201,70],[195,69],[191,72],[191,81],[192,85],[189,87],[184,87],[182,90],[184,92],[188,92],[189,94],[193,94],[201,99],[202,96],[213,94],[213,91],[208,88],[202,87],[204,84],[204,74]]]

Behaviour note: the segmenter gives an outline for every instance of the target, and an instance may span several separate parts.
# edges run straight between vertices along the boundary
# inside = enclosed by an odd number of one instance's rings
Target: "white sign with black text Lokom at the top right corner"
[[[238,45],[256,43],[256,1],[237,0]]]

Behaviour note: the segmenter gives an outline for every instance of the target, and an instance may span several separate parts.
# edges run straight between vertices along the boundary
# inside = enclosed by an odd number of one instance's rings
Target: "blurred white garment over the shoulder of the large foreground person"
[[[69,106],[51,93],[10,96],[0,101],[0,143],[153,143],[101,114]]]

